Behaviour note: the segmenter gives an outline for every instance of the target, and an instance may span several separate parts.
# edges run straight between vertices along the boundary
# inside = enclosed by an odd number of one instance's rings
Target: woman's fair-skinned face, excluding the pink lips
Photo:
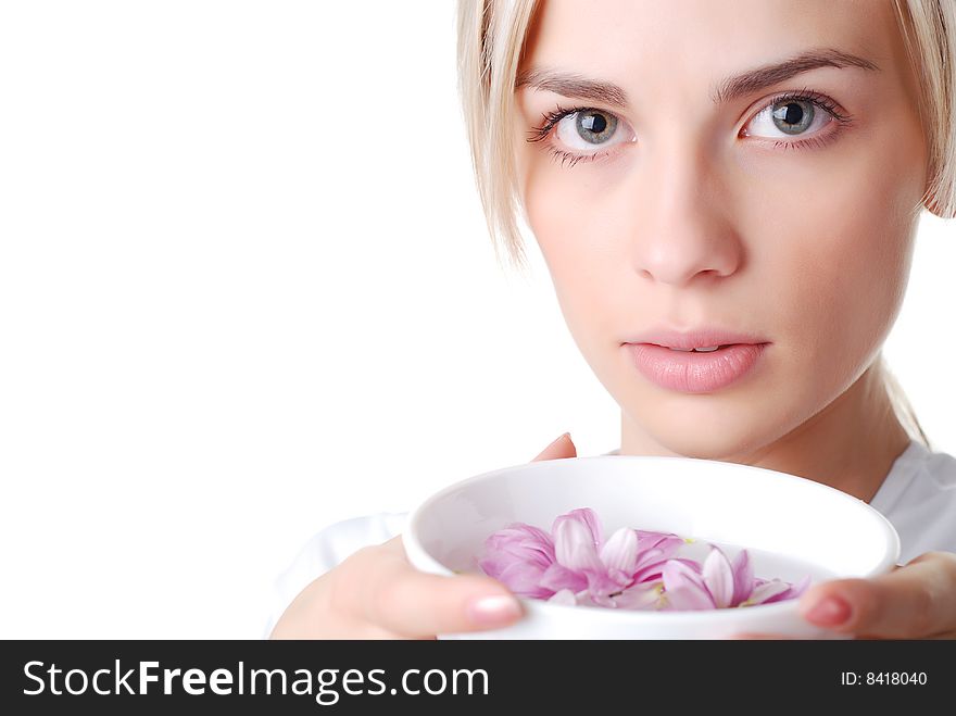
[[[726,81],[809,51],[859,61]],[[528,73],[545,71],[620,91],[536,87]],[[926,188],[889,0],[544,2],[519,77],[527,218],[625,425],[661,452],[719,459],[789,434],[864,374],[898,313]],[[536,133],[558,106],[584,111]],[[743,377],[689,392],[636,367],[627,343],[657,327],[768,344]]]

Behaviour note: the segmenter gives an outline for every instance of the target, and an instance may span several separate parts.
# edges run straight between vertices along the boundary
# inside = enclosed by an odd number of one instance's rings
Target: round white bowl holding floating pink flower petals
[[[492,532],[515,522],[550,531],[554,518],[591,507],[604,537],[619,527],[675,532],[743,548],[754,575],[812,583],[890,571],[900,557],[893,526],[840,490],[776,470],[692,457],[601,455],[532,462],[462,480],[408,515],[403,542],[423,571],[481,574]],[[680,555],[703,560],[706,552]],[[845,638],[806,621],[796,599],[740,608],[639,611],[521,599],[525,616],[504,629],[446,639],[722,639],[740,632]]]

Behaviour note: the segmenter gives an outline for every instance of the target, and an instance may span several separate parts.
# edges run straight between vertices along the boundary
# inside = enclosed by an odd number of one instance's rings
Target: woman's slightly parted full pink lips
[[[625,343],[625,348],[631,352],[638,370],[662,388],[684,393],[706,393],[725,388],[750,373],[769,344],[727,346],[719,341],[706,342],[714,340],[708,336],[688,336],[675,335],[670,340],[678,348],[681,347],[681,342],[696,347],[720,346],[720,348],[708,353],[674,351],[654,343]],[[701,340],[702,338],[704,340]]]

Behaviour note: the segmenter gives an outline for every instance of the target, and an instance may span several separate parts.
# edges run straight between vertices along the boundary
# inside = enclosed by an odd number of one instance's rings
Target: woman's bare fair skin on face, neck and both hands
[[[545,1],[525,48],[523,68],[553,63],[626,89],[633,106],[620,112],[618,131],[634,141],[615,156],[562,167],[544,142],[524,141],[557,96],[519,91],[513,117],[527,217],[571,335],[621,406],[620,452],[758,465],[868,501],[908,443],[873,364],[906,289],[927,172],[915,77],[890,4],[659,8]],[[821,46],[881,70],[815,70],[712,105],[712,85],[725,76]],[[807,87],[853,117],[834,141],[775,148],[801,137],[781,136],[766,115],[739,136],[775,96]],[[815,121],[807,134],[835,128]],[[771,346],[759,369],[710,394],[646,382],[621,347],[657,323],[715,322]],[[576,455],[565,435],[534,460]],[[483,598],[490,608],[477,610]],[[814,616],[826,598],[848,607],[842,623]],[[817,585],[800,602],[806,618],[835,631],[910,639],[956,638],[954,605],[956,555],[945,552],[875,579]],[[272,637],[427,639],[518,618],[503,585],[423,574],[398,537],[313,580]]]

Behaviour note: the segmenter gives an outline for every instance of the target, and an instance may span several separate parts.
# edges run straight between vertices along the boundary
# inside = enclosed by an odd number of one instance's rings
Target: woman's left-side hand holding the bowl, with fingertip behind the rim
[[[565,434],[534,461],[576,456]],[[444,577],[414,568],[400,535],[358,550],[310,582],[271,639],[435,639],[504,627],[520,616],[518,600],[491,577]]]

